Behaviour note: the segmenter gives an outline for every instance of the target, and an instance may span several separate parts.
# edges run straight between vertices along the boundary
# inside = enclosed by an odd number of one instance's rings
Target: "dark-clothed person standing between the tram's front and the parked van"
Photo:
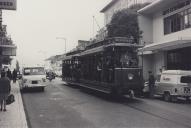
[[[149,94],[150,94],[150,98],[153,98],[155,78],[154,78],[154,75],[152,74],[152,71],[149,71],[148,73],[149,73]]]

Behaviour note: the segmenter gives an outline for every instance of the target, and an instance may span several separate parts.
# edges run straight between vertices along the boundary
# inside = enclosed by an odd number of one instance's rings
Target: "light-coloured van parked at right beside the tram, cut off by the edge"
[[[155,94],[162,95],[165,101],[176,101],[178,97],[190,100],[191,71],[166,70],[158,75]]]

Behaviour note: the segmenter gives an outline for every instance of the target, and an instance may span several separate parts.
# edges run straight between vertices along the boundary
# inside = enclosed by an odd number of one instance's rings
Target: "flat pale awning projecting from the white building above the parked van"
[[[190,47],[191,46],[191,38],[180,38],[178,40],[174,41],[169,41],[165,43],[152,43],[149,45],[146,45],[143,48],[139,49],[139,53],[155,53],[159,51],[168,51],[168,50],[173,50],[173,49],[179,49],[179,48],[184,48],[184,47]]]

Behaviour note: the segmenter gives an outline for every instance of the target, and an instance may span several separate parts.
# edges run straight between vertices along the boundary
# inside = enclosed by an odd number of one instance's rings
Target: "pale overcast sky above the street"
[[[42,64],[45,58],[76,47],[93,37],[93,16],[104,25],[100,10],[111,0],[17,0],[17,10],[3,10],[3,24],[17,45],[21,66]],[[98,30],[94,25],[94,34]]]

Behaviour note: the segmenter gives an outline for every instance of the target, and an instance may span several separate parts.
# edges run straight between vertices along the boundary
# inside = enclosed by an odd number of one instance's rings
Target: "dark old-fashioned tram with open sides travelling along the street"
[[[132,96],[143,89],[137,49],[128,38],[115,37],[68,52],[62,61],[62,79],[112,95]]]

